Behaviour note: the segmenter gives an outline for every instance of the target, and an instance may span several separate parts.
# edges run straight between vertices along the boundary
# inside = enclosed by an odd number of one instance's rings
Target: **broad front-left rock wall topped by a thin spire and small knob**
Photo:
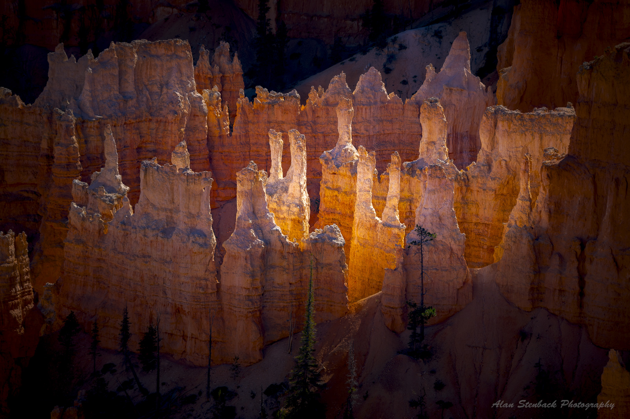
[[[159,317],[164,352],[207,362],[209,310],[219,310],[212,178],[190,170],[187,153],[181,143],[172,155],[174,165],[142,163],[134,210],[118,174],[115,141],[106,135],[105,168],[89,186],[73,185],[57,321],[69,310],[86,329],[98,320],[101,345],[116,349],[127,307],[134,319],[132,348]]]

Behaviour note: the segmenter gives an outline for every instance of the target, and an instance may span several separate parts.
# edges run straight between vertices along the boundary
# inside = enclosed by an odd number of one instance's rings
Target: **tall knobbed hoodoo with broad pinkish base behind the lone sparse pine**
[[[406,178],[408,196],[417,197],[405,206],[406,211],[413,208],[415,216],[411,222],[405,219],[408,234],[403,246],[396,248],[395,268],[385,269],[382,284],[381,311],[387,327],[397,333],[406,325],[406,302],[420,303],[422,265],[425,290],[430,290],[424,296],[425,305],[437,310],[433,322],[450,317],[473,297],[471,275],[464,260],[466,236],[459,230],[454,210],[457,169],[447,158],[447,123],[437,98],[423,103],[421,116],[424,117],[420,157],[404,163],[406,170],[402,177]],[[422,260],[418,248],[411,244],[417,239],[413,232],[416,226],[436,234],[427,243]]]

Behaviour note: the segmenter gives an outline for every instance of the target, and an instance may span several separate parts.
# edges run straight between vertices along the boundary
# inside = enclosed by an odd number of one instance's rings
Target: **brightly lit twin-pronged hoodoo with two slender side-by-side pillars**
[[[291,166],[282,173],[282,133],[269,130],[272,169],[265,186],[267,205],[275,223],[290,241],[301,241],[309,234],[311,202],[306,192],[306,138],[289,131]]]

